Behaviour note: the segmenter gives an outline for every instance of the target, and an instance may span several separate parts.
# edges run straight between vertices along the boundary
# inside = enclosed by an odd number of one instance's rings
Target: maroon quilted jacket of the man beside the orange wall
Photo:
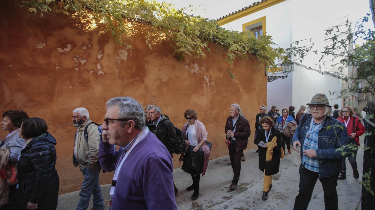
[[[225,124],[225,134],[228,130],[233,130],[232,116],[226,119]],[[236,132],[234,132],[234,137],[236,138],[237,150],[245,150],[248,147],[248,138],[250,136],[250,124],[249,121],[243,117],[239,116],[237,119]]]

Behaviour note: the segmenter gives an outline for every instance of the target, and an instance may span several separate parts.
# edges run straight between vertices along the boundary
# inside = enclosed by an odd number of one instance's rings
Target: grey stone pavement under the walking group
[[[249,142],[251,144],[252,142]],[[337,191],[340,210],[354,210],[360,205],[362,167],[363,167],[363,136],[360,139],[361,146],[357,154],[358,170],[360,178],[353,178],[353,171],[347,161],[347,179],[339,180]],[[192,184],[190,174],[180,168],[174,170],[174,182],[179,192],[176,196],[176,204],[180,210],[199,209],[293,209],[294,199],[299,189],[299,165],[300,155],[292,148],[292,154],[285,154],[281,159],[280,170],[273,176],[273,187],[268,200],[262,201],[263,173],[258,169],[258,153],[254,150],[245,151],[246,161],[242,162],[239,186],[236,190],[229,190],[233,178],[231,166],[227,163],[229,157],[221,157],[210,160],[207,173],[201,177],[199,198],[190,199],[193,191],[186,191],[186,187]],[[110,185],[103,185],[104,198],[108,198]],[[77,207],[79,191],[60,195],[58,198],[58,210],[73,210]],[[92,204],[90,208],[92,208]],[[124,208],[125,209],[125,208]],[[309,204],[309,210],[324,209],[324,194],[320,181],[315,185],[314,193]]]

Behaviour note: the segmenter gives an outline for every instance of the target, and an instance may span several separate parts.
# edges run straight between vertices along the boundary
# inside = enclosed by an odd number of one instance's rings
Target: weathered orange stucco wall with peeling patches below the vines
[[[0,111],[23,109],[44,118],[57,139],[56,168],[60,193],[80,189],[82,175],[72,164],[75,128],[72,110],[86,107],[93,121],[102,123],[105,103],[115,96],[130,96],[145,107],[156,104],[182,127],[183,113],[195,109],[213,143],[211,159],[227,156],[224,125],[232,103],[239,103],[251,124],[249,147],[255,148],[255,115],[266,104],[267,78],[256,70],[256,59],[236,60],[233,81],[228,75],[225,51],[210,44],[204,59],[172,56],[169,40],[150,49],[145,26],[124,39],[133,50],[115,44],[109,33],[86,26],[65,15],[32,15],[13,1],[0,2]],[[2,137],[6,136],[1,131]],[[181,163],[174,157],[174,167]],[[101,184],[113,173],[102,174]]]

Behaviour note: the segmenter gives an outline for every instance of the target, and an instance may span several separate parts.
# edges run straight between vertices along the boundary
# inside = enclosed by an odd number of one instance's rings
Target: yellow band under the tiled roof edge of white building
[[[276,5],[280,2],[284,2],[285,0],[267,0],[266,2],[259,3],[258,5],[251,6],[248,9],[245,9],[241,12],[237,12],[236,14],[229,15],[228,17],[225,17],[221,20],[218,20],[217,23],[219,26],[222,26],[224,24],[230,23],[232,21],[235,21],[239,18],[245,17],[246,15],[250,15],[254,12],[261,11],[262,9],[266,9],[270,6]]]

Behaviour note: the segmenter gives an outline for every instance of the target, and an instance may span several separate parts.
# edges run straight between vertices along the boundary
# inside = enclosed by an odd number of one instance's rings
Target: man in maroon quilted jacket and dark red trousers
[[[235,190],[240,178],[241,156],[243,150],[248,146],[250,124],[249,121],[243,117],[239,104],[232,104],[229,112],[231,116],[226,119],[225,134],[228,134],[228,138],[231,141],[231,144],[228,145],[228,151],[234,173],[229,189]]]

